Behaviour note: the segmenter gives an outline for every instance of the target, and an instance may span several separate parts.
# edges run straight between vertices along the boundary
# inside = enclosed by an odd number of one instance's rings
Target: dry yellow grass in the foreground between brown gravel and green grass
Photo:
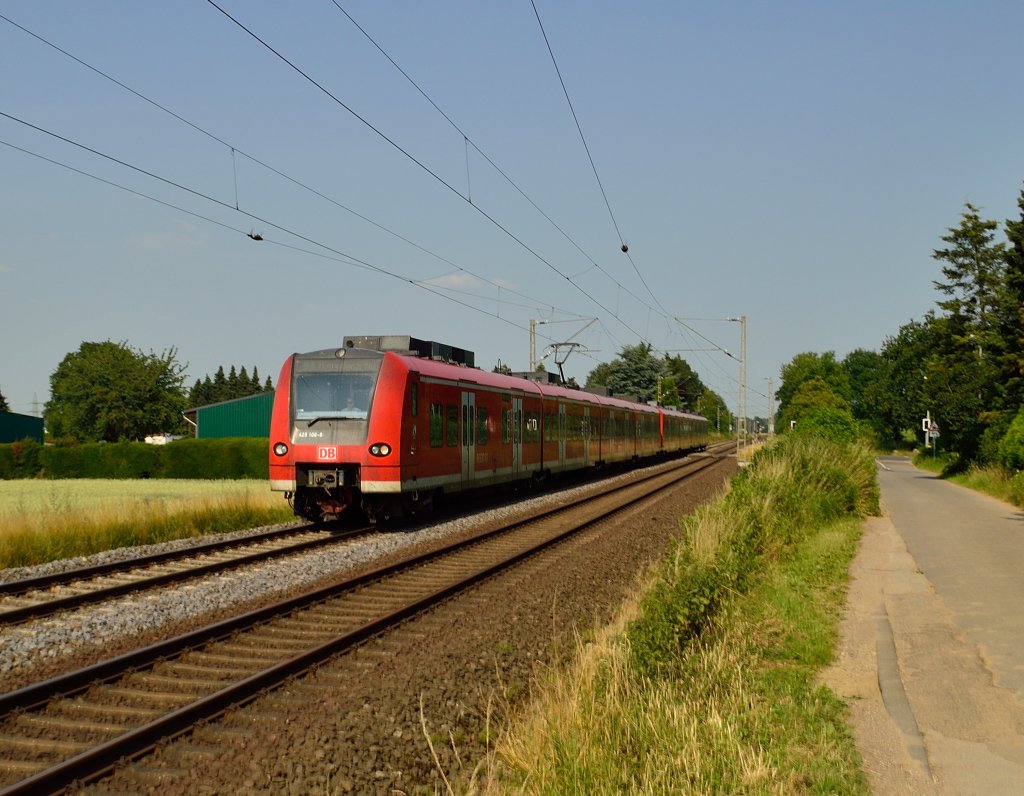
[[[521,722],[496,745],[481,792],[793,792],[751,736],[752,711],[771,706],[749,683],[738,625],[693,644],[685,683],[638,679],[623,640],[638,604],[581,642],[571,671],[542,676]]]

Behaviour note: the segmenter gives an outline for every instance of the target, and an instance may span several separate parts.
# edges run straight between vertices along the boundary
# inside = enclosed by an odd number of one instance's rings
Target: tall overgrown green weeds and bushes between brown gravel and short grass
[[[628,636],[638,671],[670,671],[683,648],[762,561],[810,532],[849,516],[877,515],[879,486],[866,448],[786,434],[758,452],[729,492],[682,520]]]

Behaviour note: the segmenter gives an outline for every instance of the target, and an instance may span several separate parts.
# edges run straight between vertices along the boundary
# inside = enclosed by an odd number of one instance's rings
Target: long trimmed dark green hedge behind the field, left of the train
[[[178,439],[168,445],[88,443],[0,445],[0,479],[267,478],[267,442]]]

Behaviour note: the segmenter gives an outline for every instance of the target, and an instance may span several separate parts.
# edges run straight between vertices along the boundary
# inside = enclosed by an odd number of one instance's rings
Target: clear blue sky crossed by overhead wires
[[[346,334],[525,370],[530,319],[581,382],[647,340],[735,407],[746,316],[765,415],[795,354],[934,306],[965,202],[1018,215],[1020,0],[537,0],[614,223],[528,0],[338,0],[458,129],[331,0],[218,4],[335,98],[204,0],[0,5],[0,112],[162,178],[0,116],[13,411],[83,341],[176,347],[189,386]]]

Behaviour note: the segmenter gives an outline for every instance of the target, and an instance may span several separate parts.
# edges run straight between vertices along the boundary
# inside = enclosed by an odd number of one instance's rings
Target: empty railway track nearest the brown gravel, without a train
[[[328,589],[0,697],[3,793],[58,790],[254,699],[695,474],[683,462]]]

